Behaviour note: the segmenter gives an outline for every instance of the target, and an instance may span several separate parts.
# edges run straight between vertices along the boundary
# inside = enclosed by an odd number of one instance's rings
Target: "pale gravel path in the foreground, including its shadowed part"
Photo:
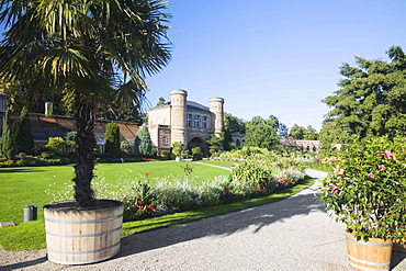
[[[0,251],[0,270],[351,270],[345,226],[326,216],[316,185],[277,203],[124,237],[121,252],[104,262],[61,266],[47,261],[45,249]],[[393,270],[406,270],[405,257],[394,253]]]

